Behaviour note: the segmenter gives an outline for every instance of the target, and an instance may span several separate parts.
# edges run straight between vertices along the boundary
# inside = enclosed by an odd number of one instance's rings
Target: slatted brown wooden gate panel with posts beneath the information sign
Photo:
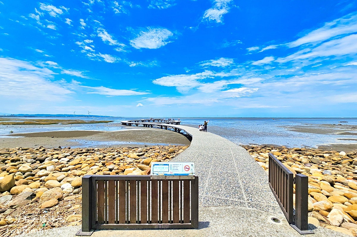
[[[175,177],[173,177],[175,178]],[[177,177],[178,178],[178,177]],[[197,228],[198,177],[85,175],[82,229]]]

